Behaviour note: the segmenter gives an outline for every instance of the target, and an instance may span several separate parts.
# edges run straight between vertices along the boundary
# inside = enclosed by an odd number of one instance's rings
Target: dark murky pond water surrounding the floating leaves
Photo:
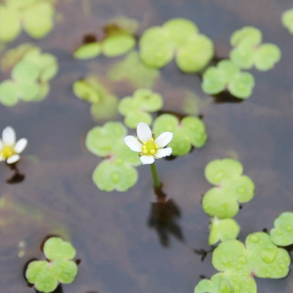
[[[203,262],[194,253],[210,249],[209,217],[201,197],[210,188],[203,171],[212,159],[239,159],[255,182],[255,197],[235,217],[241,241],[249,233],[271,229],[281,212],[292,210],[293,36],[280,22],[282,12],[291,6],[291,0],[60,0],[57,10],[62,17],[50,35],[35,42],[59,61],[50,95],[40,103],[0,105],[1,129],[11,125],[19,138],[29,142],[18,164],[25,174],[23,182],[6,184],[13,172],[4,164],[0,168],[0,195],[8,202],[0,215],[5,219],[0,226],[1,292],[34,292],[26,287],[23,266],[42,256],[40,243],[48,234],[71,240],[81,260],[76,280],[63,286],[64,293],[193,292],[200,276],[209,278],[216,272],[211,253]],[[202,149],[157,162],[163,190],[177,206],[170,207],[161,226],[156,225],[156,215],[149,220],[156,196],[147,166],[138,168],[139,182],[126,193],[105,193],[92,183],[93,169],[101,159],[86,150],[84,140],[96,122],[89,105],[72,93],[78,78],[90,72],[103,76],[113,64],[103,57],[76,61],[71,54],[84,34],[99,34],[117,15],[138,19],[141,31],[170,18],[189,18],[212,38],[220,58],[229,54],[231,33],[244,25],[259,28],[264,41],[282,51],[274,69],[251,71],[256,86],[243,103],[214,103],[202,93],[200,79],[180,73],[173,62],[161,70],[154,89],[163,95],[164,110],[182,113],[179,88],[193,90],[200,97],[208,133]],[[31,41],[23,33],[8,48]],[[122,98],[133,88],[119,83],[113,91]],[[18,258],[20,241],[26,243],[23,258]],[[256,282],[259,293],[293,292],[292,274]]]

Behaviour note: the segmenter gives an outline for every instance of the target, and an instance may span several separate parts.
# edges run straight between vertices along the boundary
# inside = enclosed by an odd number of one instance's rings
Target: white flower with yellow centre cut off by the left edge
[[[0,161],[6,161],[13,164],[20,159],[20,153],[28,144],[26,138],[21,138],[16,142],[16,134],[11,126],[4,128],[2,132],[2,140],[0,139]]]

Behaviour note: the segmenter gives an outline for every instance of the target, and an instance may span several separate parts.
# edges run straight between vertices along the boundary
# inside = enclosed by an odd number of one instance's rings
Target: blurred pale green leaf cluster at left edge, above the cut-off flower
[[[23,44],[7,52],[1,68],[11,69],[11,79],[0,83],[0,103],[12,107],[20,100],[43,100],[50,91],[49,81],[58,72],[58,62],[54,55]]]

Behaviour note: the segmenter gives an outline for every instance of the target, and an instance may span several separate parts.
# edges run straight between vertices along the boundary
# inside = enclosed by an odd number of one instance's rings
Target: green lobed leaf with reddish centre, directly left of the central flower
[[[139,156],[124,143],[126,127],[120,122],[107,122],[96,126],[86,136],[87,149],[96,156],[106,158],[93,171],[93,182],[103,191],[126,191],[138,180],[141,165]]]

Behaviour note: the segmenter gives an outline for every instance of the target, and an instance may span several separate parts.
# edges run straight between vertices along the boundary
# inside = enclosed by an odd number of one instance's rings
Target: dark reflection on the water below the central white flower
[[[148,226],[156,230],[163,247],[169,247],[170,234],[185,242],[182,229],[177,223],[181,216],[180,208],[172,199],[167,199],[167,195],[163,193],[161,188],[154,188],[154,190],[157,201],[151,203]]]

